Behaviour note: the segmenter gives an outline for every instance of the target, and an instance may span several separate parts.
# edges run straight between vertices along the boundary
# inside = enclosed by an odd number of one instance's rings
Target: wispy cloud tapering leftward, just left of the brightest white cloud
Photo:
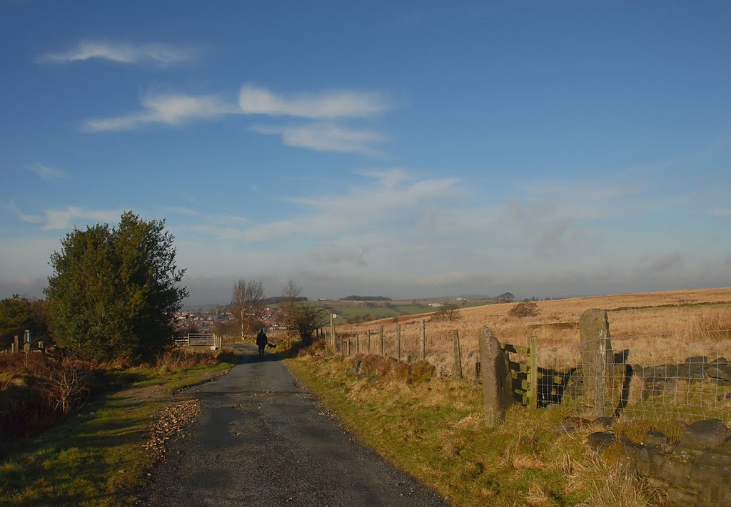
[[[205,120],[220,115],[240,113],[235,104],[227,104],[215,95],[150,94],[143,98],[143,110],[112,118],[93,118],[83,125],[88,132],[124,131],[148,123],[178,125],[189,120]]]

